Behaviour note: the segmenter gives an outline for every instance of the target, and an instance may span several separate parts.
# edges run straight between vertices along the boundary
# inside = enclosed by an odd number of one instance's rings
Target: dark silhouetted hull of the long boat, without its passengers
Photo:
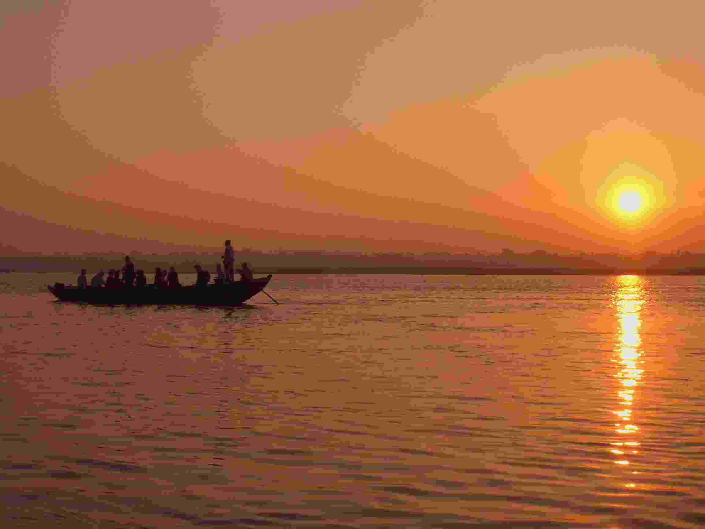
[[[77,288],[56,283],[47,285],[49,292],[62,301],[105,305],[240,305],[261,292],[271,274],[251,281],[235,281],[227,285],[180,286],[178,288]]]

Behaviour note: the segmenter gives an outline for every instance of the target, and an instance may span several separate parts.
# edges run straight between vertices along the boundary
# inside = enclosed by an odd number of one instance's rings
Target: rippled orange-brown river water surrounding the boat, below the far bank
[[[54,281],[0,275],[2,527],[705,525],[703,278]]]

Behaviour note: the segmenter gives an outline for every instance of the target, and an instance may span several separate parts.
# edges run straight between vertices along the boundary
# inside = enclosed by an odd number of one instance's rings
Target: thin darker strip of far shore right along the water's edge
[[[705,276],[705,268],[696,269],[637,269],[637,268],[465,268],[465,267],[255,267],[255,275],[454,275],[454,276]],[[0,269],[0,273],[59,274],[75,270],[19,270]],[[193,274],[192,270],[177,270],[179,274]],[[149,274],[149,272],[147,272]]]

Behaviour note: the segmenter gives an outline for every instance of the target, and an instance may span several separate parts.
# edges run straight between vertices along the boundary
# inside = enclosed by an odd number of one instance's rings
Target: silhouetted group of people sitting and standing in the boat
[[[225,241],[225,253],[222,256],[223,267],[220,263],[216,265],[216,277],[214,278],[214,284],[230,284],[235,281],[235,252],[233,251],[233,246],[230,243],[230,239]],[[238,269],[240,274],[240,281],[251,281],[254,279],[252,277],[252,270],[247,265],[247,262],[243,262],[243,267]],[[196,286],[206,286],[211,281],[211,274],[208,270],[203,269],[201,265],[194,265],[196,269]],[[223,272],[223,268],[225,271]],[[122,276],[121,276],[122,272]],[[87,288],[88,279],[86,277],[85,269],[81,270],[78,276],[78,281],[76,281],[78,288]],[[169,267],[168,272],[166,269],[161,269],[161,267],[156,267],[154,269],[154,288],[178,288],[181,286],[178,280],[178,272],[174,267]],[[144,270],[136,270],[135,265],[132,260],[130,260],[129,255],[125,255],[125,265],[122,270],[112,269],[108,272],[108,277],[105,278],[105,272],[101,270],[95,274],[91,281],[90,286],[93,288],[144,288],[147,286],[147,277],[145,276]]]

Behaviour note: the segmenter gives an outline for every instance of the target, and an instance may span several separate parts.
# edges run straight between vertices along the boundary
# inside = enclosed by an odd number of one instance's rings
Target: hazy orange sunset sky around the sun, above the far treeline
[[[704,15],[3,4],[4,244],[705,251]],[[639,212],[615,209],[628,190]]]

